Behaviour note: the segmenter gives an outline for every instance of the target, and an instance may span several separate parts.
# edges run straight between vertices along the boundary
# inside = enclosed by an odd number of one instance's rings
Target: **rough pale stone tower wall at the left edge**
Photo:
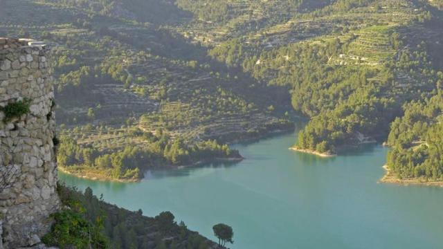
[[[39,243],[60,207],[53,138],[50,48],[0,38],[0,220],[3,247]],[[28,101],[28,113],[6,120],[6,107]],[[0,243],[1,245],[1,243]]]

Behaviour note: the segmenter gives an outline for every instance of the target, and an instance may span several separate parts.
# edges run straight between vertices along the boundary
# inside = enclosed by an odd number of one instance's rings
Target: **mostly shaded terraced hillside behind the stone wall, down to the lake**
[[[228,70],[177,32],[189,12],[142,2],[3,3],[0,35],[53,46],[61,169],[137,181],[152,167],[241,160],[224,143],[293,129],[284,92]]]

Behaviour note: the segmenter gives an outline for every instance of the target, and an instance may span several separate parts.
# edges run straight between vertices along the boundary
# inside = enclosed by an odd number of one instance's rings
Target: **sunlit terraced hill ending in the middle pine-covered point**
[[[433,91],[436,71],[425,68],[440,65],[431,55],[441,50],[440,17],[421,1],[335,1],[214,43],[210,55],[286,87],[312,118],[298,147],[332,154],[386,138],[401,103]]]

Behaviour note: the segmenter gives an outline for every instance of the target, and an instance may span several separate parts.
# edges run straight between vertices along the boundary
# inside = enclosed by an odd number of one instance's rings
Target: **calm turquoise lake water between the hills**
[[[149,216],[170,210],[210,239],[227,223],[231,248],[443,248],[442,188],[377,183],[380,146],[318,158],[290,151],[294,141],[236,145],[241,163],[150,172],[141,183],[60,179]]]

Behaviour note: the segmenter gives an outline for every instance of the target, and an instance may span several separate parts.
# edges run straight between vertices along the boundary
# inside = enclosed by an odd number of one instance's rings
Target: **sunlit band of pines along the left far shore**
[[[102,136],[109,132],[112,130],[105,131]],[[116,136],[123,133],[116,132]],[[219,145],[215,140],[189,145],[182,138],[171,140],[162,131],[158,136],[140,130],[124,132],[128,142],[121,149],[106,143],[78,144],[75,142],[78,130],[66,132],[57,148],[59,167],[72,173],[96,174],[98,178],[134,181],[143,178],[147,169],[242,159],[238,151],[229,149],[228,145]]]

